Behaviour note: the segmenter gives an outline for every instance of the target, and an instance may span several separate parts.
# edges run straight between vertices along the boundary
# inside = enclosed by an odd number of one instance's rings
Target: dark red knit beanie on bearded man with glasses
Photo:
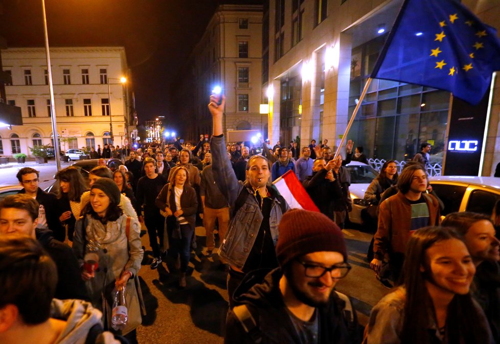
[[[344,234],[327,216],[307,210],[293,209],[285,213],[279,224],[276,255],[283,267],[296,257],[312,252],[333,251],[347,261]]]

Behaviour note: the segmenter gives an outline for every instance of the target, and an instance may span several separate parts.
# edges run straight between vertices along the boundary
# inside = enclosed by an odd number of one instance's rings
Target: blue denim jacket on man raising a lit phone
[[[241,192],[248,193],[244,204],[232,216],[228,232],[220,245],[220,256],[231,265],[241,269],[252,250],[264,217],[252,190],[246,188],[242,182],[236,179],[231,161],[226,152],[224,137],[212,136],[210,147],[212,150],[214,179],[219,190],[229,202],[231,214],[233,214],[238,195]],[[268,188],[268,190],[272,197],[269,227],[272,241],[276,246],[278,242],[278,224],[283,215],[281,203],[285,202],[286,209],[288,209],[288,205],[275,188]]]

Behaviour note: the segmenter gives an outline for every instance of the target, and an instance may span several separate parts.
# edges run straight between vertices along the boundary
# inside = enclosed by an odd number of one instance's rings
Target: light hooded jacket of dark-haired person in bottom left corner
[[[66,322],[54,344],[84,344],[90,329],[101,324],[102,314],[85,301],[54,299],[50,316]],[[120,344],[120,341],[106,331],[96,338],[96,344]]]

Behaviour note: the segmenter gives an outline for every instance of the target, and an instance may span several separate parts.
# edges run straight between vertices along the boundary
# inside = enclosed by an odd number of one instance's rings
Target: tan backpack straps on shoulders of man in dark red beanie
[[[342,306],[341,311],[344,315],[344,321],[347,326],[347,331],[349,333],[354,333],[355,331],[357,331],[357,323],[354,317],[354,310],[352,308],[351,300],[346,294],[340,293],[336,290],[334,290],[333,292],[338,296],[340,300],[344,302],[344,306]],[[259,326],[257,325],[254,316],[248,309],[248,306],[245,304],[235,306],[233,308],[233,313],[243,327],[243,330],[248,333],[248,336],[250,336],[256,344],[261,343],[262,333]]]

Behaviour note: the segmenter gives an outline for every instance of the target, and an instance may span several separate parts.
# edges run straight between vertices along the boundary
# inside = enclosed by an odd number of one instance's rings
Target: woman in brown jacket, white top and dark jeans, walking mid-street
[[[176,268],[180,268],[179,287],[181,288],[186,287],[186,272],[198,209],[196,192],[189,184],[188,169],[179,166],[172,172],[171,181],[163,187],[155,201],[156,206],[166,213],[170,241],[169,255],[171,254],[175,259]]]

